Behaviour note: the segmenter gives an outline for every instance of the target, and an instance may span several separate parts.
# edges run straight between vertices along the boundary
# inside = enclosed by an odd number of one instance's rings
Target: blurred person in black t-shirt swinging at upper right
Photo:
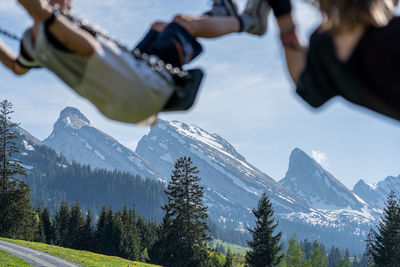
[[[397,0],[318,0],[325,18],[308,51],[297,38],[290,0],[268,0],[281,30],[296,92],[320,107],[335,96],[400,120]]]

